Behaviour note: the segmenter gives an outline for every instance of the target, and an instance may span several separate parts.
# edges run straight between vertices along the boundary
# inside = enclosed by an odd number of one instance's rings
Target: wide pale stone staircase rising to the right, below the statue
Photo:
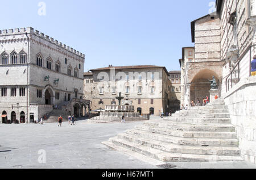
[[[224,101],[218,99],[137,125],[102,143],[164,162],[243,161],[236,129],[230,122]]]

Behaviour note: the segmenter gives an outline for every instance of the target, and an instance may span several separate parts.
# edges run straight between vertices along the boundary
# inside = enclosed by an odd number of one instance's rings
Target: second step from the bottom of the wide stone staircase
[[[168,153],[183,153],[183,154],[203,154],[203,155],[218,155],[218,156],[240,156],[241,151],[237,147],[200,147],[200,146],[181,146],[161,141],[155,141],[137,137],[127,133],[118,135],[118,139],[124,139],[139,145],[149,146],[163,150]]]

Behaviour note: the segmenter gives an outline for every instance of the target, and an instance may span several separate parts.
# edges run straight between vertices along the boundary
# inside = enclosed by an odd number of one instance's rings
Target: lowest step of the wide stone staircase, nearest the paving
[[[148,146],[139,145],[137,143],[132,143],[123,139],[118,139],[114,137],[110,139],[111,143],[117,146],[111,146],[118,150],[120,148],[127,148],[138,152],[140,154],[146,155],[151,158],[158,159],[163,162],[216,162],[216,161],[242,161],[242,158],[239,156],[217,156],[217,155],[200,155],[200,154],[181,154],[181,153],[167,153],[163,150],[150,148]]]

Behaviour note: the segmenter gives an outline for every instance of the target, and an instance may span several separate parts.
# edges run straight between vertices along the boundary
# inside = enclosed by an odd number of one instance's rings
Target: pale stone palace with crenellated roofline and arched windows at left
[[[0,122],[32,123],[63,106],[80,116],[88,104],[84,61],[84,54],[31,27],[0,31]]]

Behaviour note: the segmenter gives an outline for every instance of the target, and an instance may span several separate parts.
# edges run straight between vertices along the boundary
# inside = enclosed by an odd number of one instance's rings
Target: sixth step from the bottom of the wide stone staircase
[[[166,122],[180,122],[180,123],[217,123],[230,124],[230,118],[192,118],[185,116],[172,116],[163,118]]]

